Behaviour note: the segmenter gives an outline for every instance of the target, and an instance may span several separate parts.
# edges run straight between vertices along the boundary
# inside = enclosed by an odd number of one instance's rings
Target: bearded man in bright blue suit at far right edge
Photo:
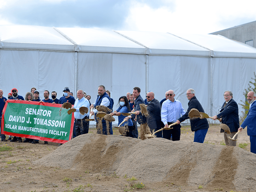
[[[238,130],[244,129],[247,126],[247,135],[250,136],[251,152],[256,154],[256,95],[255,92],[250,91],[247,94],[247,101],[250,104],[250,109],[244,122]]]

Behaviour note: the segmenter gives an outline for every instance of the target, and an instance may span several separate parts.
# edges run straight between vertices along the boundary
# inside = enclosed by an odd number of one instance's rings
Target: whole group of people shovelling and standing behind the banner
[[[72,108],[76,109],[74,112],[75,116],[75,131],[73,132],[74,137],[80,134],[88,133],[89,130],[89,121],[86,119],[90,115],[95,115],[97,132],[101,134],[113,134],[112,123],[106,121],[104,118],[98,118],[96,115],[98,113],[97,106],[105,106],[108,108],[106,111],[107,114],[111,116],[118,116],[118,124],[120,126],[125,126],[124,136],[138,138],[138,129],[137,123],[140,125],[145,125],[150,129],[150,132],[157,131],[163,127],[167,127],[170,124],[172,129],[163,130],[156,133],[156,137],[163,137],[165,139],[172,139],[173,141],[180,140],[180,123],[186,119],[189,119],[189,112],[191,109],[197,109],[199,112],[204,113],[204,109],[200,102],[196,98],[196,92],[194,89],[188,89],[186,96],[189,100],[188,110],[185,111],[182,107],[182,104],[179,100],[174,99],[175,93],[173,90],[169,90],[165,93],[165,98],[160,102],[155,99],[154,92],[149,91],[146,95],[146,100],[143,100],[140,95],[140,88],[134,87],[132,94],[127,92],[126,96],[121,96],[118,100],[118,108],[113,111],[114,100],[110,98],[110,92],[105,89],[105,86],[100,85],[98,87],[98,96],[94,103],[90,103],[91,96],[86,95],[83,90],[77,91],[77,99],[71,96],[70,90],[68,87],[65,87],[64,95],[58,100],[56,98],[57,92],[53,91],[52,99],[49,98],[49,91],[44,91],[44,99],[39,99],[39,92],[36,88],[32,88],[31,92],[28,92],[25,96],[25,100],[39,101],[39,102],[49,102],[49,103],[58,103],[63,104],[64,102],[69,102],[73,105]],[[13,88],[11,93],[8,94],[8,99],[19,99],[24,100],[24,98],[18,95],[18,90]],[[7,99],[3,97],[3,91],[0,89],[0,120],[2,118],[2,110],[4,108],[4,103]],[[224,92],[224,100],[220,113],[213,116],[213,120],[219,120],[221,123],[228,125],[230,133],[224,132],[224,140],[228,146],[236,146],[236,140],[230,140],[236,132],[242,131],[247,126],[247,133],[250,136],[251,141],[251,152],[256,153],[256,102],[255,101],[255,92],[249,92],[247,95],[248,103],[250,104],[250,110],[246,119],[244,120],[241,126],[239,125],[239,115],[238,115],[238,105],[235,100],[233,100],[233,93],[231,91]],[[145,102],[146,101],[146,102]],[[140,104],[146,104],[148,116],[145,116],[140,109]],[[88,113],[82,115],[79,112],[80,107],[86,107]],[[134,112],[130,116],[124,116],[121,113]],[[0,121],[1,123],[1,121]],[[100,128],[101,127],[101,132]],[[195,132],[194,142],[203,143],[205,135],[208,131],[209,124],[206,118],[190,118],[191,131]],[[236,138],[237,139],[237,135]],[[9,138],[10,140],[10,138]],[[14,137],[11,141],[22,142],[21,138]],[[1,134],[1,141],[5,140],[5,135]],[[31,142],[29,139],[25,139],[23,142]],[[38,143],[38,140],[33,140],[32,143]]]

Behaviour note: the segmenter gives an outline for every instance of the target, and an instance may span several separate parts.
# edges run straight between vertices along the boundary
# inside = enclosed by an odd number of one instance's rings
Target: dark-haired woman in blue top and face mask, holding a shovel
[[[126,117],[126,116],[121,115],[121,113],[131,112],[131,109],[130,109],[130,105],[129,105],[129,102],[128,102],[126,96],[120,97],[118,103],[119,103],[120,107],[113,113],[110,113],[110,115],[118,116],[118,125],[119,125],[120,123],[122,123],[122,121]],[[131,119],[129,119],[128,122],[126,121],[120,125],[120,126],[125,126],[125,132],[122,134],[123,136],[129,137],[129,133],[132,131],[132,125],[133,124],[132,124]]]

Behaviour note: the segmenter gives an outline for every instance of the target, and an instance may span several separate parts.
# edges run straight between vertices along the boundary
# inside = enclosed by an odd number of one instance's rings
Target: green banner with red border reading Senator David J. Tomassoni
[[[6,135],[56,143],[71,140],[74,114],[60,104],[7,100],[3,109],[1,132]]]

